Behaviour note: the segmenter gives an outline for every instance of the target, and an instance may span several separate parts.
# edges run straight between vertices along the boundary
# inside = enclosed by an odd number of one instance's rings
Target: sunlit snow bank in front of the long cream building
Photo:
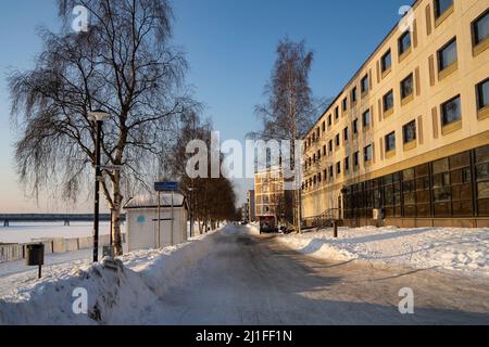
[[[489,277],[489,229],[340,228],[338,239],[333,237],[333,230],[324,230],[277,240],[319,258],[441,268]]]

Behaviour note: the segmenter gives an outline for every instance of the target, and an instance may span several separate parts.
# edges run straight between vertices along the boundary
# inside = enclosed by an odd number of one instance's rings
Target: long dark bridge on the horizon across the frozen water
[[[100,221],[110,221],[110,214],[101,214]],[[121,220],[126,220],[125,215],[121,215]],[[20,215],[1,215],[0,221],[3,221],[3,227],[9,227],[13,222],[64,222],[70,226],[73,221],[93,221],[93,215],[63,215],[63,214],[20,214]]]

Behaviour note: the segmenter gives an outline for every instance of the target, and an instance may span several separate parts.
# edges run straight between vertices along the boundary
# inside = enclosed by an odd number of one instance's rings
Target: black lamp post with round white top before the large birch
[[[100,168],[102,125],[110,114],[98,110],[90,112],[88,117],[97,123],[96,136],[96,181],[95,181],[95,210],[93,210],[93,262],[99,261],[99,220],[100,220],[100,181],[102,170]],[[111,231],[112,232],[112,231]]]

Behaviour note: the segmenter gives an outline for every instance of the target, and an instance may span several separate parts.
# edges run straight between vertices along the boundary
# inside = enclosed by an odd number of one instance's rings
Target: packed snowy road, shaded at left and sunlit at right
[[[227,227],[160,299],[161,324],[489,324],[489,284],[436,270],[327,262]],[[415,313],[399,313],[411,287]]]

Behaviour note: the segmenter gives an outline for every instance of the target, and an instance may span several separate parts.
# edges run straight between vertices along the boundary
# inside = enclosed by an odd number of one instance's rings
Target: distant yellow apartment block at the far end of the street
[[[280,167],[259,171],[254,176],[255,217],[276,216],[285,209],[284,176]]]

